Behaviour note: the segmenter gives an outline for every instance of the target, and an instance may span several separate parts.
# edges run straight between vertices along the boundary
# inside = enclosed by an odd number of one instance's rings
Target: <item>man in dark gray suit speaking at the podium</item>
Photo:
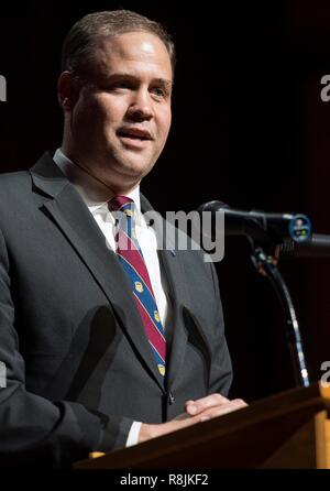
[[[62,148],[1,176],[2,465],[68,466],[244,405],[226,397],[212,264],[200,251],[157,250],[144,218],[139,186],[169,131],[173,66],[157,23],[87,15],[63,50]],[[118,197],[133,207],[123,209],[138,263],[118,247]]]

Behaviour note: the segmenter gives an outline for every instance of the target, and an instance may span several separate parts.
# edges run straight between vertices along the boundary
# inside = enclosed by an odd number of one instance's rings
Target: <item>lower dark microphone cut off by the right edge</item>
[[[330,236],[314,233],[306,243],[285,241],[278,246],[277,252],[280,259],[330,258]]]

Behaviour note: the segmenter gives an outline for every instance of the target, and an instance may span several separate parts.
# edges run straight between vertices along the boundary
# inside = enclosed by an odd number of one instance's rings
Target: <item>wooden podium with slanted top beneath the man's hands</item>
[[[327,469],[330,388],[314,383],[121,450],[76,469]]]

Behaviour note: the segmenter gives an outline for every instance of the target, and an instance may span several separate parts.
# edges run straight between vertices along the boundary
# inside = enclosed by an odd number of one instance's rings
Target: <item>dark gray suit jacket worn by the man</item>
[[[158,254],[173,309],[165,384],[116,253],[51,154],[0,177],[0,465],[68,466],[123,447],[133,421],[228,393],[215,269],[200,251]]]

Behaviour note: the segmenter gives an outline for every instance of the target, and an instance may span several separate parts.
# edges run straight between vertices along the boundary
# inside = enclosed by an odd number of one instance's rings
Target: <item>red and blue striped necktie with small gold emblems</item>
[[[127,273],[158,371],[165,377],[166,341],[155,295],[135,234],[135,204],[127,196],[116,196],[109,209],[117,218],[116,252]]]

